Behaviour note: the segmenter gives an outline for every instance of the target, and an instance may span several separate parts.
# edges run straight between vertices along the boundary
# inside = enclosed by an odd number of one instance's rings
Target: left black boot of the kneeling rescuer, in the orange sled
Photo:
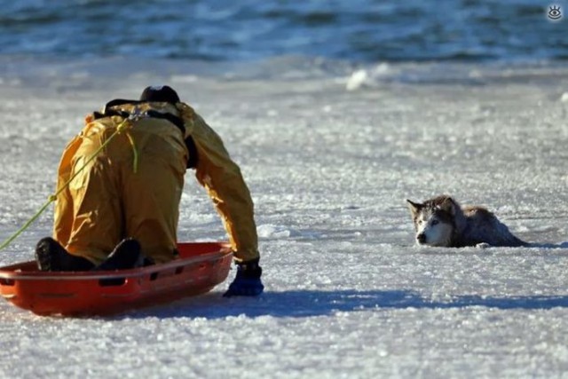
[[[45,237],[36,245],[36,262],[40,271],[89,271],[93,264],[88,259],[69,254],[58,241]]]

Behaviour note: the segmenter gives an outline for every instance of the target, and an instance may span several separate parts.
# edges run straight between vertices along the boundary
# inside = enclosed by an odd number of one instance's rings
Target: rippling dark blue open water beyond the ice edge
[[[0,0],[0,54],[568,59],[566,0]],[[550,5],[563,17],[547,17]]]

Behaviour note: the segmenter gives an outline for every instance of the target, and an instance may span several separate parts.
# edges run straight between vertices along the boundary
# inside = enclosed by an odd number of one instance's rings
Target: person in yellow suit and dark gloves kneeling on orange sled
[[[241,170],[169,86],[114,99],[86,117],[59,163],[63,190],[53,237],[36,246],[39,269],[120,270],[175,259],[186,169],[209,193],[234,251],[237,275],[225,296],[260,295],[253,202]]]

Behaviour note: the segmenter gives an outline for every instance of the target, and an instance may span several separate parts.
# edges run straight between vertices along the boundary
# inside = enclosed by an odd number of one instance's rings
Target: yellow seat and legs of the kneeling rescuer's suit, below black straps
[[[86,162],[120,122],[120,117],[90,122],[67,145],[59,163],[58,188],[81,172],[58,195],[54,238],[69,253],[95,265],[126,237],[137,239],[142,252],[156,263],[168,262],[176,249],[188,154],[183,133],[165,120],[143,118]],[[138,151],[137,172],[126,133]]]

